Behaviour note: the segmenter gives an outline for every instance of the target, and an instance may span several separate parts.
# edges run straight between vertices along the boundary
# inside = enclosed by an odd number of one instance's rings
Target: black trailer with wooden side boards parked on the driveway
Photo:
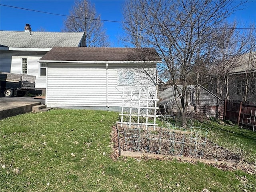
[[[35,89],[36,76],[0,72],[1,94],[5,97],[24,96]]]

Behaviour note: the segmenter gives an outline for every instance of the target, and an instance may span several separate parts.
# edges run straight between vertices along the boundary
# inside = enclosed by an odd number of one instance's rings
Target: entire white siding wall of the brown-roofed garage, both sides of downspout
[[[46,105],[51,107],[86,107],[86,106],[121,106],[123,90],[126,95],[131,89],[138,93],[139,89],[155,90],[155,83],[139,69],[120,68],[108,64],[47,64]],[[128,67],[128,66],[126,66]],[[137,75],[134,86],[118,86],[118,73],[130,70]],[[156,69],[153,72],[156,80]],[[106,84],[108,72],[108,86]],[[142,91],[146,94],[146,91]],[[108,97],[107,97],[108,94]],[[154,92],[153,92],[154,94]],[[127,101],[129,102],[129,101]]]

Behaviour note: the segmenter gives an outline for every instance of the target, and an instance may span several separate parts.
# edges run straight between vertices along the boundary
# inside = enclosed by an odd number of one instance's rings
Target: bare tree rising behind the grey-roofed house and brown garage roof
[[[64,20],[64,30],[68,32],[84,32],[86,47],[108,47],[108,36],[96,14],[94,4],[87,0],[75,1],[70,16]]]

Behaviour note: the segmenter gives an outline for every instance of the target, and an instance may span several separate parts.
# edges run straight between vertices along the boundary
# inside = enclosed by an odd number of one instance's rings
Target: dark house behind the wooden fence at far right
[[[214,76],[212,82],[209,90],[217,93]],[[224,79],[222,82],[224,84]],[[219,90],[222,90],[222,99],[227,99],[226,86],[220,85]],[[229,100],[256,102],[256,52],[242,55],[228,72],[228,97]]]

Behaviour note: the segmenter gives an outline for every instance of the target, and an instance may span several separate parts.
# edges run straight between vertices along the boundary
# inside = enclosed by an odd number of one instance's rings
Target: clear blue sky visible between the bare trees
[[[94,0],[96,12],[100,14],[102,20],[122,21],[122,4],[120,0]],[[238,1],[235,1],[235,3]],[[74,5],[71,0],[1,0],[0,4],[51,12],[55,14],[69,15],[69,10]],[[21,10],[0,6],[0,30],[23,31],[26,23],[31,25],[32,31],[40,28],[48,32],[60,32],[63,28],[65,16],[44,14],[28,10]],[[236,19],[241,27],[248,27],[250,22],[256,22],[256,0],[247,2],[242,10],[230,17]],[[110,37],[111,47],[122,47],[118,40],[122,35],[122,24],[116,22],[104,22],[107,35]]]

